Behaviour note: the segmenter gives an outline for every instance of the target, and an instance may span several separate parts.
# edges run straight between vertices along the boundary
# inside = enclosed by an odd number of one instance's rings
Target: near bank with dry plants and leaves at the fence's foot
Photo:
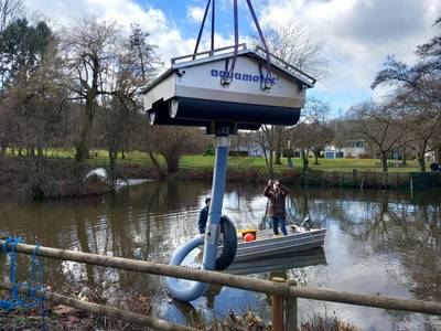
[[[71,296],[73,293],[69,293]],[[133,296],[122,301],[106,299],[98,292],[85,290],[74,293],[76,297],[88,302],[112,306],[131,312],[151,316],[152,302],[149,298]],[[109,305],[112,302],[112,305]],[[203,313],[196,312],[189,317],[187,327],[205,331],[271,331],[271,324],[263,321],[256,313],[247,311],[244,314],[236,314],[233,311],[225,318],[212,318],[207,320]],[[143,331],[148,328],[120,320],[97,316],[63,305],[45,302],[45,317],[42,318],[40,309],[12,310],[0,312],[0,330],[47,330],[54,331],[89,331],[89,330],[126,330]],[[301,322],[299,331],[357,331],[358,329],[347,322],[334,317],[314,316],[310,321]]]

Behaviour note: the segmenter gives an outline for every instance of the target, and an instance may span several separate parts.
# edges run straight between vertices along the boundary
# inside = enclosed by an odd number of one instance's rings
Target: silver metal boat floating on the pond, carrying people
[[[287,236],[275,236],[272,229],[258,231],[256,241],[237,244],[234,261],[248,261],[321,247],[325,235],[325,228],[305,231],[297,226],[293,226]]]

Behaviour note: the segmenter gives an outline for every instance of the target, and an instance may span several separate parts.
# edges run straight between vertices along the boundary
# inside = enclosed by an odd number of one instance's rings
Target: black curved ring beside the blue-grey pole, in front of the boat
[[[224,247],[216,259],[215,269],[225,270],[233,263],[237,250],[236,226],[227,216],[220,217],[220,232],[224,234]]]

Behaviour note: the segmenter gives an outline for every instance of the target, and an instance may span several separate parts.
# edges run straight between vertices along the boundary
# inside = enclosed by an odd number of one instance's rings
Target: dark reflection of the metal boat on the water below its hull
[[[229,274],[248,275],[261,274],[273,270],[288,270],[308,266],[325,265],[326,256],[322,247],[297,252],[291,254],[280,254],[277,257],[254,259],[249,261],[234,261],[228,269]]]

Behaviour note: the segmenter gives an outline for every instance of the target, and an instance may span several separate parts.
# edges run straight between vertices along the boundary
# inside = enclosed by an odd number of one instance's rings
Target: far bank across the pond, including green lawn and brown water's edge
[[[82,178],[88,170],[104,167],[108,168],[109,160],[105,150],[94,150],[93,158],[88,159],[82,166]],[[158,157],[160,163],[165,169],[165,162]],[[17,184],[24,191],[31,191],[37,184],[42,189],[44,196],[79,196],[89,195],[87,188],[85,192],[71,190],[65,194],[66,183],[73,182],[74,171],[78,168],[75,163],[73,151],[52,151],[42,160],[46,163],[45,171],[36,171],[30,157],[3,157],[7,160],[7,167],[0,172],[0,184],[8,192],[18,192]],[[311,168],[308,172],[302,171],[301,160],[294,159],[294,167],[287,167],[287,160],[283,159],[281,166],[275,166],[275,174],[286,183],[298,185],[319,185],[319,186],[340,186],[340,188],[363,188],[363,189],[439,189],[441,188],[441,174],[426,172],[422,173],[417,168],[415,161],[409,162],[408,167],[391,167],[389,172],[381,171],[378,160],[375,159],[320,159],[320,164],[314,166],[311,161]],[[3,162],[4,163],[4,162]],[[9,164],[8,164],[9,163]],[[0,164],[1,166],[1,164]],[[214,156],[183,156],[181,158],[180,169],[176,173],[169,175],[169,179],[175,180],[208,180],[213,178]],[[155,178],[150,159],[142,152],[130,152],[125,159],[117,161],[116,178]],[[4,169],[9,169],[7,172]],[[31,171],[30,171],[31,170]],[[229,181],[255,181],[263,182],[268,178],[263,158],[256,157],[230,157],[228,160],[228,180]],[[51,184],[52,182],[52,184]],[[47,184],[50,183],[50,184]],[[58,190],[61,188],[61,190]],[[1,185],[0,185],[1,189]],[[33,190],[35,191],[35,190]],[[58,192],[60,191],[60,192]],[[47,193],[45,193],[47,192]]]

